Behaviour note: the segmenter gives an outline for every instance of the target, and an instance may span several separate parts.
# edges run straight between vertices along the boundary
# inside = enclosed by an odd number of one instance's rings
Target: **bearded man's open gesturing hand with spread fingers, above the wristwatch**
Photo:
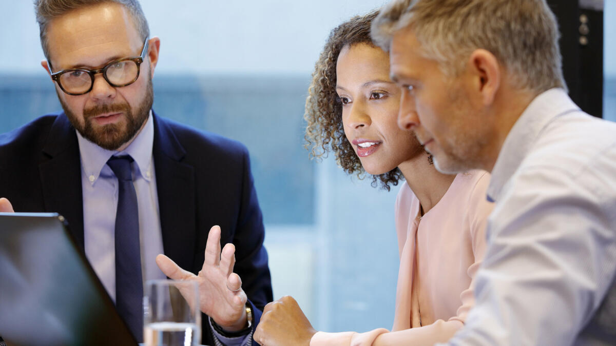
[[[226,244],[221,252],[221,228],[209,230],[205,261],[199,275],[180,268],[166,255],[156,256],[156,264],[172,280],[197,281],[201,312],[227,331],[239,331],[246,326],[246,293],[241,279],[233,273],[235,246]]]

